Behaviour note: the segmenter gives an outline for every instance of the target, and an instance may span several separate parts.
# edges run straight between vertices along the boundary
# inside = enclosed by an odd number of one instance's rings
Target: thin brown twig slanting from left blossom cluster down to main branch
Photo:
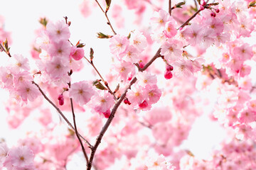
[[[41,87],[40,87],[38,84],[36,84],[35,81],[32,81],[32,84],[35,84],[35,85],[38,87],[38,90],[41,92],[41,94],[43,95],[43,97],[46,98],[46,101],[48,101],[48,102],[56,109],[56,111],[58,111],[58,113],[60,113],[61,117],[65,120],[66,123],[68,123],[68,125],[70,126],[70,128],[71,128],[72,130],[74,130],[74,132],[75,132],[75,128],[74,128],[73,125],[70,123],[70,121],[65,117],[65,115],[62,113],[62,111],[60,111],[60,108],[58,108],[57,106],[55,106],[55,104],[54,104],[52,101],[50,101],[50,99],[46,96],[46,94],[43,92],[43,90],[41,89]],[[90,144],[90,142],[88,142],[88,141],[85,139],[85,137],[82,137],[82,135],[80,135],[79,133],[78,133],[78,135],[82,138],[82,140],[84,140],[84,141],[87,143],[87,145],[89,145],[89,147],[92,147],[92,145]]]

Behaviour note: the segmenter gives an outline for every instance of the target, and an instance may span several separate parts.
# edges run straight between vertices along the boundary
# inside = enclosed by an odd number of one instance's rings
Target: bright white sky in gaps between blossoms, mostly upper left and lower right
[[[116,0],[116,2],[113,1],[112,3],[117,3],[118,1]],[[71,21],[71,42],[73,44],[78,40],[84,42],[86,45],[85,55],[87,56],[89,55],[90,47],[92,47],[95,50],[95,65],[103,75],[107,73],[110,64],[105,63],[110,63],[112,56],[110,55],[109,47],[105,45],[107,40],[97,39],[96,33],[102,32],[112,35],[112,32],[106,24],[106,18],[100,8],[93,8],[92,16],[84,18],[79,9],[81,3],[82,0],[0,0],[0,15],[5,18],[5,30],[11,32],[11,54],[18,53],[25,57],[30,56],[31,43],[36,38],[34,31],[36,28],[40,28],[39,18],[46,16],[51,21],[58,21],[62,20],[63,16],[68,16],[68,21]],[[129,17],[132,17],[132,12],[130,11]],[[151,16],[151,13],[148,16]],[[119,33],[128,35],[129,31],[133,30],[132,24],[128,26],[130,28],[127,28],[126,31],[119,31]],[[3,52],[0,53],[0,57],[0,65],[6,64],[8,57]],[[85,67],[90,68],[90,65],[86,62],[84,63]],[[89,77],[91,74],[90,69],[88,70],[88,74],[83,74],[83,78]],[[75,81],[79,80],[81,80],[80,77],[77,77]],[[0,102],[2,103],[2,101],[6,100],[7,93],[1,89],[0,95]],[[1,103],[0,138],[10,134],[5,123],[6,111]],[[188,137],[188,142],[184,147],[189,147],[194,154],[204,157],[210,152],[213,144],[220,142],[223,137],[225,137],[225,133],[219,130],[218,125],[210,123],[207,116],[204,116],[196,121],[196,125],[191,130],[191,135]],[[7,138],[12,139],[10,136]]]

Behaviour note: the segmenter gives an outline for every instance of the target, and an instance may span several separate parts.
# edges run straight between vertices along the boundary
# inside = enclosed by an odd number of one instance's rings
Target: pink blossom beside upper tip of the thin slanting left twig
[[[23,101],[34,101],[40,95],[38,88],[31,81],[25,81],[23,84],[19,84],[17,91]]]

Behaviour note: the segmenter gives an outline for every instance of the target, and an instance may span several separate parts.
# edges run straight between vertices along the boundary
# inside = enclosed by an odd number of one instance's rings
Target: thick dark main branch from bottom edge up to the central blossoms
[[[107,128],[109,128],[110,123],[112,122],[113,118],[114,118],[114,114],[117,112],[117,108],[120,106],[120,104],[122,103],[122,101],[124,100],[124,97],[127,94],[128,89],[131,89],[132,84],[134,84],[137,81],[137,78],[134,77],[132,79],[132,81],[130,81],[129,86],[127,86],[127,88],[124,90],[124,93],[122,94],[122,96],[119,98],[119,100],[117,101],[117,103],[114,104],[114,108],[111,111],[110,114],[110,118],[107,119],[107,122],[105,123],[105,125],[103,126],[102,130],[100,131],[100,135],[98,135],[97,140],[95,142],[95,145],[91,148],[92,152],[90,154],[90,160],[89,163],[87,164],[87,170],[90,170],[92,168],[92,161],[93,158],[95,157],[95,152],[97,150],[97,147],[100,145],[100,142],[102,140],[103,135],[105,134],[105,132],[107,131]]]

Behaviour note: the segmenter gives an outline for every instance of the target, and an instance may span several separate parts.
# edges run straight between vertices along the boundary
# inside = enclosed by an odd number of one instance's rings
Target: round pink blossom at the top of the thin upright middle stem
[[[92,89],[92,85],[90,85],[87,81],[79,81],[71,85],[69,90],[70,98],[76,103],[79,103],[80,106],[85,105],[90,101],[92,96],[95,94],[95,91]]]

